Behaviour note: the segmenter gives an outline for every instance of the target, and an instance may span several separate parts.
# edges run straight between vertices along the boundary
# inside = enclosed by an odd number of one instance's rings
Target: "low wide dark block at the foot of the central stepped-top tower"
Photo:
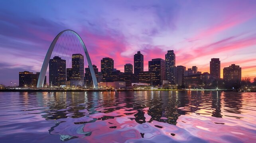
[[[139,73],[139,82],[140,83],[149,83],[153,85],[156,79],[156,74],[154,72],[146,71]]]

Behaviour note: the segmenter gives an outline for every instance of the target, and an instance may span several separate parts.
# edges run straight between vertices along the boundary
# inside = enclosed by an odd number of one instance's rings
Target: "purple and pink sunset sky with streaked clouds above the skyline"
[[[0,84],[39,72],[65,29],[81,36],[99,71],[104,57],[124,71],[138,50],[147,71],[149,60],[174,50],[176,66],[209,72],[220,58],[221,77],[231,64],[256,77],[256,0],[1,0]]]

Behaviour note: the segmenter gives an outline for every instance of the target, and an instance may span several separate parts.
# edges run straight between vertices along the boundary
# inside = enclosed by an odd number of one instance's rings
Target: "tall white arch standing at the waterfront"
[[[95,72],[93,70],[92,61],[91,61],[91,58],[90,58],[89,53],[87,51],[87,48],[85,46],[85,43],[83,42],[81,37],[75,31],[73,31],[73,30],[63,30],[54,38],[53,42],[51,43],[51,45],[50,45],[50,47],[47,51],[47,54],[44,58],[43,65],[42,65],[42,68],[41,68],[41,71],[40,71],[40,74],[39,74],[39,78],[38,78],[38,81],[37,81],[37,88],[43,87],[43,82],[44,82],[44,79],[45,79],[46,70],[48,68],[48,64],[49,64],[49,61],[50,61],[50,58],[51,58],[51,54],[53,52],[53,48],[54,48],[55,44],[57,43],[61,34],[64,33],[65,31],[71,31],[79,39],[79,41],[80,41],[80,43],[83,46],[83,49],[85,51],[85,56],[87,58],[87,62],[89,64],[89,69],[90,69],[92,79],[93,79],[93,85],[94,85],[94,87],[98,87],[98,82],[97,82],[97,79],[96,79]]]

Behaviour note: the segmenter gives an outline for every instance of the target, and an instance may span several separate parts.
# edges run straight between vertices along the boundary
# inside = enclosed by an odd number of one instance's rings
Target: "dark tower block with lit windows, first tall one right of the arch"
[[[108,81],[113,69],[114,69],[114,60],[112,58],[102,58],[100,72],[102,73],[103,82]]]

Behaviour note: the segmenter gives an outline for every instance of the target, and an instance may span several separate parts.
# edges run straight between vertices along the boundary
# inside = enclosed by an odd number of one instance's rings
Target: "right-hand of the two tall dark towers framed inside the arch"
[[[75,85],[83,86],[84,81],[84,56],[82,54],[72,54],[72,78],[76,81]]]

